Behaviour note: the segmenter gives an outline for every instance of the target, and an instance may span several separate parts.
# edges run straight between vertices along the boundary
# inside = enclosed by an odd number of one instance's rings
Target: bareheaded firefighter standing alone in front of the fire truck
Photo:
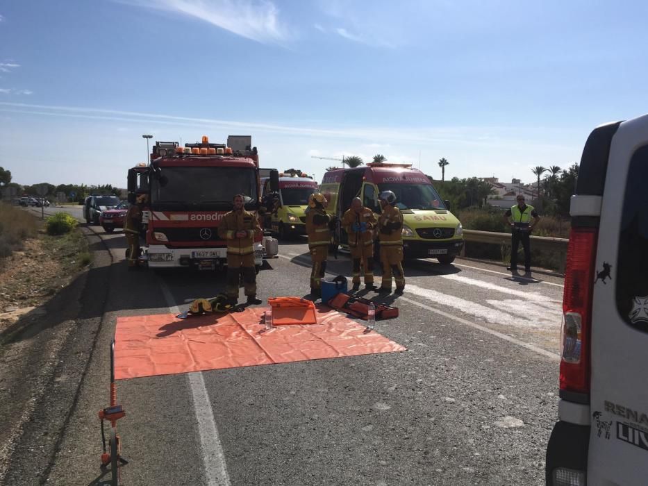
[[[244,196],[234,196],[234,209],[228,212],[218,226],[218,236],[227,241],[226,294],[232,305],[238,303],[238,283],[243,276],[243,287],[248,304],[260,304],[256,298],[256,268],[254,267],[254,237],[261,228],[256,216],[243,208]]]

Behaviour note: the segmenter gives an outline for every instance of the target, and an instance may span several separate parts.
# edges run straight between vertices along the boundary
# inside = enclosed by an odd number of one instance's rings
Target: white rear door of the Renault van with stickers
[[[648,477],[648,115],[610,146],[592,301],[588,485]]]

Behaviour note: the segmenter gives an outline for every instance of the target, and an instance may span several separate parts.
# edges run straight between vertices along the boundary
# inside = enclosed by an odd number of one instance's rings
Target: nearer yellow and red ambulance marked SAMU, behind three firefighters
[[[443,264],[454,261],[463,248],[463,229],[450,212],[428,176],[411,164],[370,163],[354,169],[326,172],[320,187],[329,201],[327,211],[342,217],[358,196],[365,207],[380,214],[379,194],[392,191],[403,214],[405,258],[437,258]],[[346,235],[341,231],[340,243]]]

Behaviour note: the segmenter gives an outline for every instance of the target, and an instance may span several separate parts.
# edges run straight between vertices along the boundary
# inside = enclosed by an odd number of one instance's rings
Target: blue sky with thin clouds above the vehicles
[[[321,181],[383,153],[533,181],[648,112],[643,2],[0,0],[0,166],[126,185],[146,141],[252,135]]]

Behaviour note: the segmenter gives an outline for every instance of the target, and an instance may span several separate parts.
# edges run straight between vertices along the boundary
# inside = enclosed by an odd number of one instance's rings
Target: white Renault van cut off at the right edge
[[[648,484],[648,115],[590,134],[570,213],[548,485]]]

